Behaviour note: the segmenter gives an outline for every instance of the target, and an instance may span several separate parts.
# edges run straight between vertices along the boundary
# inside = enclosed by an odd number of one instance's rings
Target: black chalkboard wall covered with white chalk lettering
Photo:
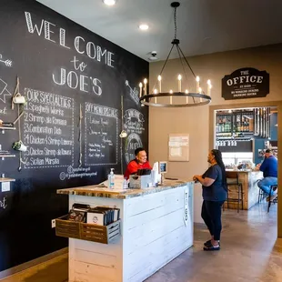
[[[1,174],[15,178],[0,190],[3,271],[67,246],[51,228],[67,212],[57,188],[100,183],[147,148],[138,83],[148,64],[35,1],[2,0],[0,11],[0,119],[13,123],[24,109],[15,130],[0,131],[0,154],[15,155],[0,159]],[[12,109],[17,93],[27,103]]]

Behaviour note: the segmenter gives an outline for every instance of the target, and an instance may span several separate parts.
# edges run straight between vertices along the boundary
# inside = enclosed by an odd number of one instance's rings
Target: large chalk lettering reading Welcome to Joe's
[[[43,36],[47,41],[58,44],[66,49],[71,49],[65,43],[65,28],[59,27],[45,19],[38,21],[29,12],[25,12],[25,22],[29,33]],[[77,55],[86,55],[91,60],[104,63],[109,67],[115,67],[115,54],[106,50],[106,48],[96,45],[92,41],[86,42],[85,38],[79,35],[73,39],[73,45]],[[76,73],[76,71],[83,73],[86,70],[86,63],[79,61],[76,55],[70,63],[75,70],[66,70],[65,67],[59,68],[59,70],[56,70],[52,74],[53,82],[58,86],[68,86],[71,89],[79,89],[82,92],[94,93],[97,96],[101,96],[102,82],[99,78]]]

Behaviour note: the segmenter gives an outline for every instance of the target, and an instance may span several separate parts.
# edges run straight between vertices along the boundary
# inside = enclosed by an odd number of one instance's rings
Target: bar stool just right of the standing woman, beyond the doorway
[[[229,202],[237,203],[237,213],[239,212],[240,203],[243,209],[243,187],[239,182],[239,177],[236,171],[227,171],[227,208],[229,208]],[[229,186],[237,186],[237,189],[230,189]],[[229,192],[236,192],[237,197],[230,197]]]

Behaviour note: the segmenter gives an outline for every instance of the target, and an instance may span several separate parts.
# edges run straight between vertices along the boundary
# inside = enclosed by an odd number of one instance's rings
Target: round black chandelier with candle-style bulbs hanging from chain
[[[145,78],[143,83],[144,83],[144,87],[143,84],[140,82],[139,84],[139,88],[140,88],[140,92],[139,92],[139,101],[141,103],[141,106],[162,106],[162,107],[188,107],[188,106],[203,106],[206,105],[208,103],[211,102],[211,96],[210,96],[210,92],[211,92],[211,82],[210,80],[207,80],[207,95],[205,94],[205,92],[203,91],[203,89],[200,87],[200,78],[199,76],[196,76],[192,67],[189,65],[189,63],[186,60],[186,56],[183,54],[179,44],[180,41],[179,39],[176,38],[176,33],[177,33],[177,26],[176,26],[176,8],[180,5],[179,2],[173,2],[171,3],[171,6],[175,9],[174,11],[174,20],[175,20],[175,38],[173,39],[173,41],[171,42],[172,47],[166,57],[166,62],[163,65],[161,72],[159,74],[159,76],[157,76],[157,81],[155,83],[155,86],[153,87],[153,93],[147,93],[147,79]],[[182,89],[182,76],[178,75],[177,76],[177,80],[178,80],[178,89],[177,91],[173,91],[173,90],[169,90],[169,92],[162,92],[162,87],[161,87],[161,82],[162,82],[162,74],[163,71],[166,67],[166,63],[169,59],[169,56],[172,52],[172,50],[174,49],[174,47],[176,47],[177,53],[179,55],[179,59],[183,68],[183,72],[185,75],[185,79],[186,79],[186,83],[188,81],[187,79],[187,74],[186,74],[186,69],[185,69],[185,63],[186,65],[188,65],[192,75],[195,77],[196,79],[196,92],[190,92],[188,89],[185,89],[183,91]],[[158,85],[158,88],[156,88],[156,85]],[[143,90],[144,90],[144,94],[143,94]],[[185,97],[184,99],[181,99],[184,101],[184,103],[178,103],[179,99],[177,99],[177,103],[174,104],[173,103],[173,97],[176,96],[182,96]],[[160,97],[169,97],[169,104],[165,104],[165,103],[159,103],[159,98]],[[192,97],[192,101],[193,103],[189,103],[189,97]],[[163,101],[164,99],[162,99]]]

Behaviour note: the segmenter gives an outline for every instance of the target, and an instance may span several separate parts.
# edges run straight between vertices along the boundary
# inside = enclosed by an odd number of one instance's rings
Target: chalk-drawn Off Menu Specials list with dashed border
[[[88,102],[85,106],[86,166],[116,165],[118,152],[118,110]]]

